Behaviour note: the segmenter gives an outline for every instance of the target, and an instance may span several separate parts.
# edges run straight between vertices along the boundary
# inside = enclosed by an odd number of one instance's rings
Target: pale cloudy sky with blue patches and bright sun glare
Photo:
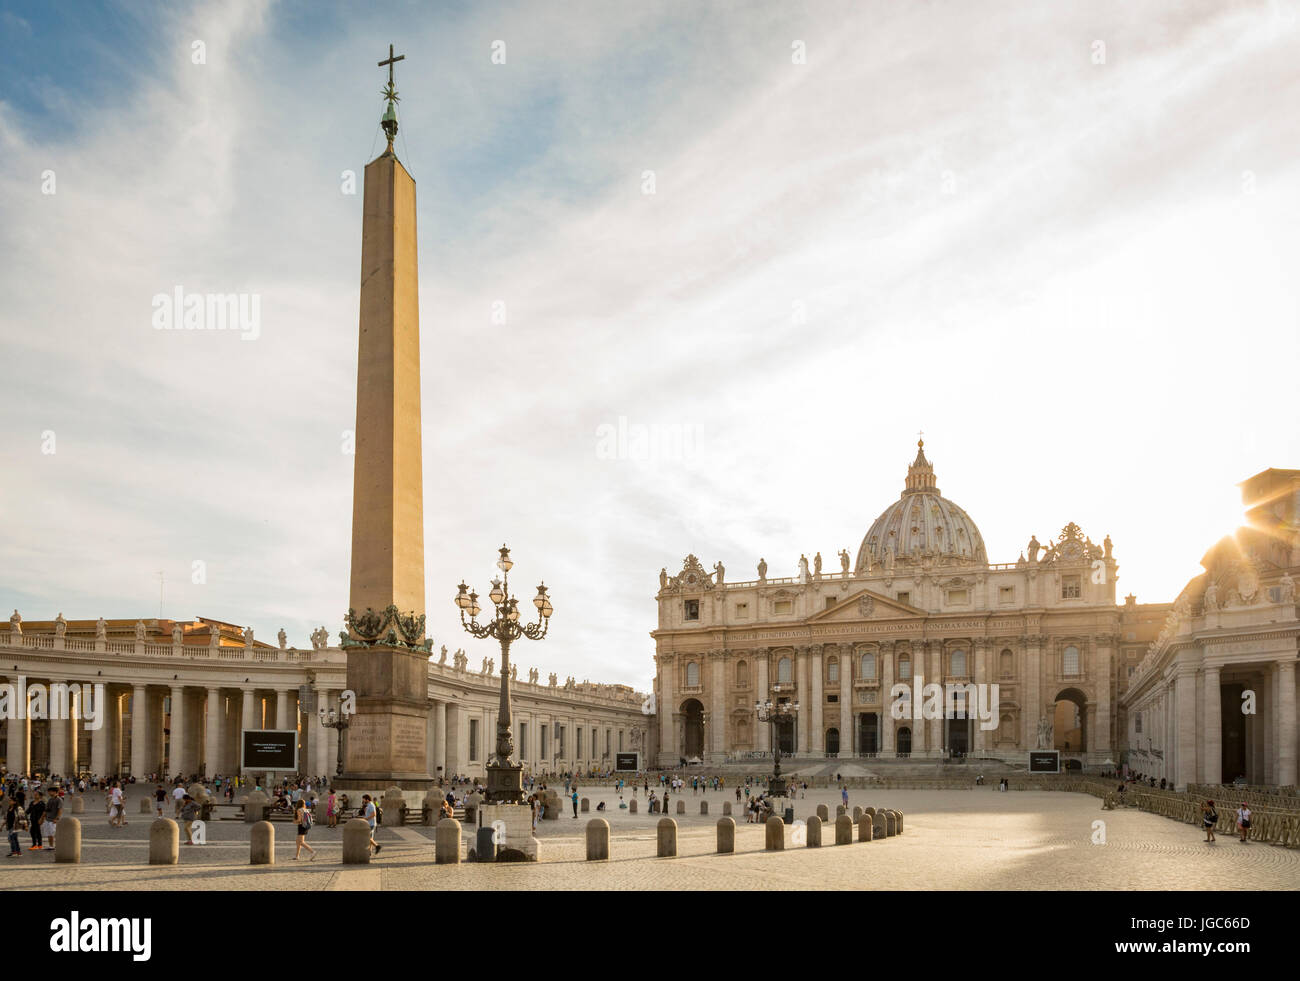
[[[1170,602],[1300,466],[1297,17],[0,3],[0,607],[342,629],[390,43],[436,647],[507,542],[521,670],[647,690],[660,567],[857,555],[918,431],[991,561],[1075,521]]]

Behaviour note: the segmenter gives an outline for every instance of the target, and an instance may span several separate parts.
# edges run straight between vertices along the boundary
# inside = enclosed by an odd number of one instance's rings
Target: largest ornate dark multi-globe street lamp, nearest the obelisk
[[[497,713],[497,755],[488,761],[488,803],[489,804],[521,804],[524,803],[524,767],[511,763],[515,752],[515,735],[511,732],[510,719],[510,644],[520,637],[529,641],[541,641],[551,626],[551,600],[546,595],[546,583],[537,587],[533,596],[533,605],[537,607],[536,624],[519,622],[519,600],[510,595],[510,570],[515,563],[510,559],[510,550],[500,547],[500,557],[497,559],[497,568],[502,572],[500,580],[491,581],[491,592],[488,598],[497,608],[495,616],[486,624],[480,624],[478,594],[469,590],[462,582],[456,592],[455,604],[460,608],[460,622],[467,633],[474,637],[495,637],[500,642],[500,711]],[[465,615],[469,618],[465,620]]]

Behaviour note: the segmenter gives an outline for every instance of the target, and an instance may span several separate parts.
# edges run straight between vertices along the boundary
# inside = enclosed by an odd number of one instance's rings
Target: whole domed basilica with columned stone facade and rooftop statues
[[[660,765],[757,758],[774,739],[814,759],[1024,763],[1058,748],[1078,765],[1118,761],[1118,699],[1169,604],[1117,605],[1109,537],[1070,522],[991,563],[918,443],[898,500],[836,565],[801,556],[796,576],[770,577],[759,560],[758,578],[732,582],[692,555],[660,572]],[[777,717],[763,721],[767,703]]]

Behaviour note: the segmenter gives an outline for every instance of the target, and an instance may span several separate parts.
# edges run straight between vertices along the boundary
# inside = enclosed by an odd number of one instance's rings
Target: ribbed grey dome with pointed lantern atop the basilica
[[[857,572],[922,559],[962,565],[988,563],[979,529],[970,515],[940,495],[935,468],[926,459],[926,444],[918,440],[902,495],[884,509],[862,539]]]

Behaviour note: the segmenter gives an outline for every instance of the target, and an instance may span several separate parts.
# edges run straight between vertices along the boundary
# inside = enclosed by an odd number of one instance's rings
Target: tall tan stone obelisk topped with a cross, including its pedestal
[[[430,785],[429,641],[424,633],[424,482],[420,453],[420,299],[415,181],[396,159],[398,101],[389,47],[387,148],[365,168],[361,304],[347,616],[350,719],[343,786]]]

